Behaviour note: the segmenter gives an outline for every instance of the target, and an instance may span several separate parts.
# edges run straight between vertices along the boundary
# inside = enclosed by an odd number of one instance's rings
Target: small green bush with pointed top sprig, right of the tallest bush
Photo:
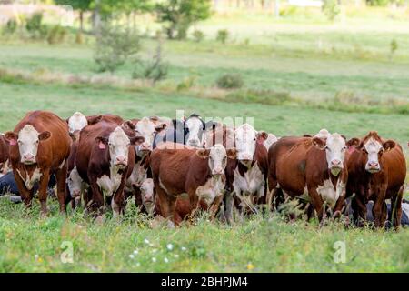
[[[156,54],[153,56],[152,61],[147,65],[137,61],[132,77],[134,79],[148,79],[152,80],[154,85],[157,81],[165,79],[167,75],[168,65],[163,62],[162,59],[162,45],[158,42],[156,48]]]

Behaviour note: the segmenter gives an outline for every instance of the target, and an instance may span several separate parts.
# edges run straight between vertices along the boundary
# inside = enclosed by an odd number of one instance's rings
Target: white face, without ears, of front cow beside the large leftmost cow
[[[116,127],[115,131],[109,135],[108,146],[109,155],[111,156],[111,166],[118,168],[128,166],[128,154],[131,141],[121,126]]]

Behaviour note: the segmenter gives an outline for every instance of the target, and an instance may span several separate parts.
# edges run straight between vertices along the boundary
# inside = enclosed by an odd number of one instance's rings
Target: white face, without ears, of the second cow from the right
[[[346,142],[344,137],[339,134],[328,134],[326,138],[326,161],[328,163],[328,168],[336,166],[337,168],[344,167]],[[339,164],[335,164],[339,161]],[[339,173],[339,172],[338,172]],[[338,174],[336,173],[336,175]],[[335,174],[335,173],[334,173]]]

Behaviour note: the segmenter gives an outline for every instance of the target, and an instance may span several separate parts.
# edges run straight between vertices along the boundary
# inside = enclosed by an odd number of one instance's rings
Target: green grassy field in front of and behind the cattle
[[[254,19],[248,21],[258,25],[254,27],[263,25]],[[225,25],[231,24],[215,19],[201,27],[211,35]],[[395,33],[386,29],[394,25],[399,27]],[[348,137],[377,130],[401,142],[408,154],[409,115],[402,112],[370,113],[359,108],[344,112],[340,105],[337,110],[328,110],[291,100],[281,105],[262,104],[257,99],[254,103],[237,102],[233,97],[214,99],[212,94],[219,94],[214,88],[219,75],[239,72],[244,77],[244,94],[247,89],[288,92],[328,103],[338,92],[347,91],[363,106],[406,101],[409,31],[400,23],[390,22],[379,33],[363,28],[355,34],[346,28],[334,32],[333,25],[312,25],[311,33],[305,34],[285,21],[268,27],[274,31],[271,41],[265,33],[265,37],[252,37],[250,45],[242,44],[241,39],[228,45],[209,39],[200,44],[166,42],[170,75],[155,88],[59,84],[0,74],[0,131],[13,129],[27,111],[34,109],[51,110],[64,118],[77,110],[86,115],[109,112],[125,118],[173,117],[175,110],[184,109],[186,115],[254,117],[257,129],[279,136],[314,134],[323,127]],[[388,45],[393,38],[400,48],[390,61]],[[145,40],[141,57],[146,60],[154,48],[154,41]],[[0,67],[33,75],[96,75],[91,44],[50,46],[2,40]],[[127,64],[115,77],[129,79],[131,72],[132,65]],[[178,91],[176,86],[188,77],[195,77],[195,86]],[[224,92],[224,97],[231,93]],[[289,224],[272,215],[254,216],[234,226],[211,224],[204,216],[196,226],[169,230],[150,227],[131,205],[125,217],[107,219],[101,226],[85,219],[81,211],[70,210],[69,216],[59,216],[55,201],[50,207],[52,215],[39,218],[38,206],[27,212],[21,205],[10,204],[6,197],[0,198],[0,272],[409,271],[407,229],[395,233],[345,229],[343,223],[334,222],[324,227],[315,222]],[[343,264],[334,263],[337,241],[346,246]],[[60,260],[63,242],[74,246],[73,264]]]

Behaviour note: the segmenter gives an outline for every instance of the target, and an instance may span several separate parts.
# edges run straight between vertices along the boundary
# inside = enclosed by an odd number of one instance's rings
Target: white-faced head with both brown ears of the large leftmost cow
[[[10,146],[17,146],[20,153],[20,162],[25,165],[33,165],[36,163],[36,156],[40,141],[45,141],[51,136],[49,131],[44,131],[41,134],[35,130],[33,125],[25,125],[18,134],[8,132],[5,138]]]

